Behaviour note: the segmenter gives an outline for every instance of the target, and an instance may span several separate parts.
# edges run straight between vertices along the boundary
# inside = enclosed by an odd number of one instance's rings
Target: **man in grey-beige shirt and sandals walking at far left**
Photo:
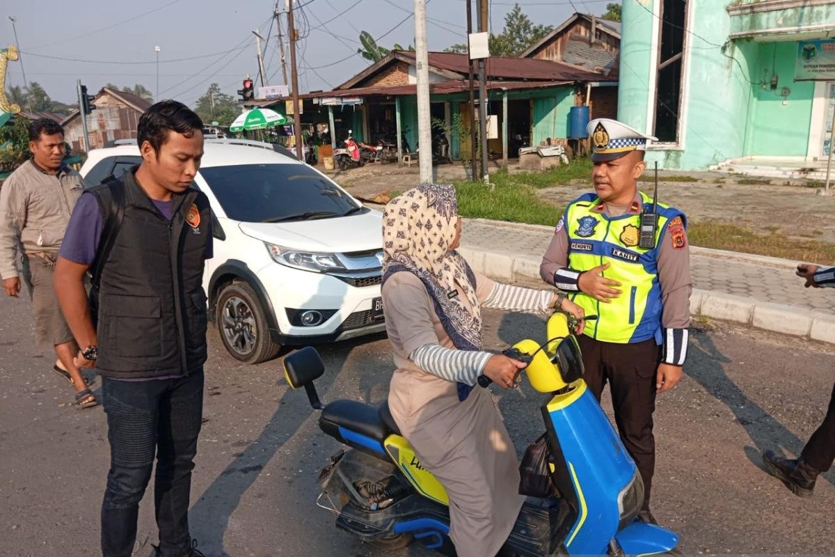
[[[55,371],[75,387],[80,408],[95,406],[74,357],[78,348],[53,289],[53,271],[69,215],[84,188],[81,175],[63,165],[66,146],[61,124],[50,119],[29,124],[32,158],[18,167],[0,190],[0,277],[8,296],[18,297],[21,280],[16,253],[23,253],[38,341],[55,348],[63,369]]]

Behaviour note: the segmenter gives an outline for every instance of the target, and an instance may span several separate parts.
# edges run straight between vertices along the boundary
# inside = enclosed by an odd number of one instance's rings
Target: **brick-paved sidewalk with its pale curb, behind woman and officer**
[[[462,253],[490,276],[539,279],[539,261],[553,235],[544,226],[467,220]],[[835,292],[805,289],[797,262],[691,248],[694,314],[746,322],[787,334],[835,342]]]

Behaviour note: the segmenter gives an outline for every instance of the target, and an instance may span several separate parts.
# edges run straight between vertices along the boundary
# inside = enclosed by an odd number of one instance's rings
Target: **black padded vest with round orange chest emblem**
[[[192,189],[176,194],[169,222],[135,171],[121,178],[124,216],[101,274],[96,367],[121,379],[188,375],[206,360],[209,200]],[[102,195],[107,187],[90,191]]]

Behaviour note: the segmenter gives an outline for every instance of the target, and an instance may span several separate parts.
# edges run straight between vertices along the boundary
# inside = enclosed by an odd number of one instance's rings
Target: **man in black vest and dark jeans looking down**
[[[139,119],[142,164],[79,198],[55,269],[58,300],[81,347],[77,361],[103,377],[110,442],[104,557],[129,557],[134,549],[154,453],[157,554],[202,555],[188,522],[203,414],[203,268],[212,251],[209,201],[190,187],[202,129],[184,104],[150,107]],[[100,262],[94,325],[83,277]]]

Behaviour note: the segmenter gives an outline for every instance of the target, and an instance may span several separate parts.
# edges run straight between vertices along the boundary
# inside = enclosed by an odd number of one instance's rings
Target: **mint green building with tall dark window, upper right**
[[[650,163],[818,178],[833,106],[835,0],[624,0],[618,117]]]

